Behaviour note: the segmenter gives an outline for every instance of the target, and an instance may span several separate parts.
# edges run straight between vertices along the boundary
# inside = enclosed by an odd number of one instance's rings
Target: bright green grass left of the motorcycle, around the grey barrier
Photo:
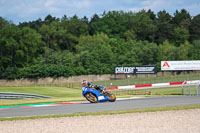
[[[85,100],[81,94],[81,89],[66,87],[0,87],[0,92],[30,93],[52,97],[45,99],[0,100],[0,106]]]

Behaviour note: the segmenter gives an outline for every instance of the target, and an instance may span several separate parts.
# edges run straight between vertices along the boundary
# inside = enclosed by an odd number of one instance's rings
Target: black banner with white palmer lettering
[[[116,66],[115,74],[155,74],[156,66]]]

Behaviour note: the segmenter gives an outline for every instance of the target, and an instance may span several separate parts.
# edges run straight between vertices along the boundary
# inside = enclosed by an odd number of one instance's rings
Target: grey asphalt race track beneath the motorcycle
[[[79,103],[45,107],[0,109],[0,118],[45,116],[78,112],[102,112],[127,109],[144,109],[166,106],[200,105],[200,96],[170,96],[118,100],[104,103]]]

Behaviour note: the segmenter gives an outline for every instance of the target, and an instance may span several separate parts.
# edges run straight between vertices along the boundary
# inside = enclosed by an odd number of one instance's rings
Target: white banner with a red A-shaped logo
[[[161,61],[161,70],[200,70],[200,60],[193,61]]]

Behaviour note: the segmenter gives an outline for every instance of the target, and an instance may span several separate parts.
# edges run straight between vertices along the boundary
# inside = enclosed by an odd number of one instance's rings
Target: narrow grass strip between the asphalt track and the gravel
[[[173,110],[187,110],[187,109],[200,109],[200,105],[169,106],[169,107],[158,107],[158,108],[117,110],[117,111],[91,112],[91,113],[81,113],[80,112],[80,113],[64,114],[64,115],[48,115],[48,116],[32,116],[32,117],[16,117],[16,118],[0,118],[0,121],[14,121],[14,120],[27,120],[27,119],[44,119],[44,118],[60,118],[60,117],[89,116],[89,115],[115,115],[115,114],[157,112],[157,111],[173,111]]]

